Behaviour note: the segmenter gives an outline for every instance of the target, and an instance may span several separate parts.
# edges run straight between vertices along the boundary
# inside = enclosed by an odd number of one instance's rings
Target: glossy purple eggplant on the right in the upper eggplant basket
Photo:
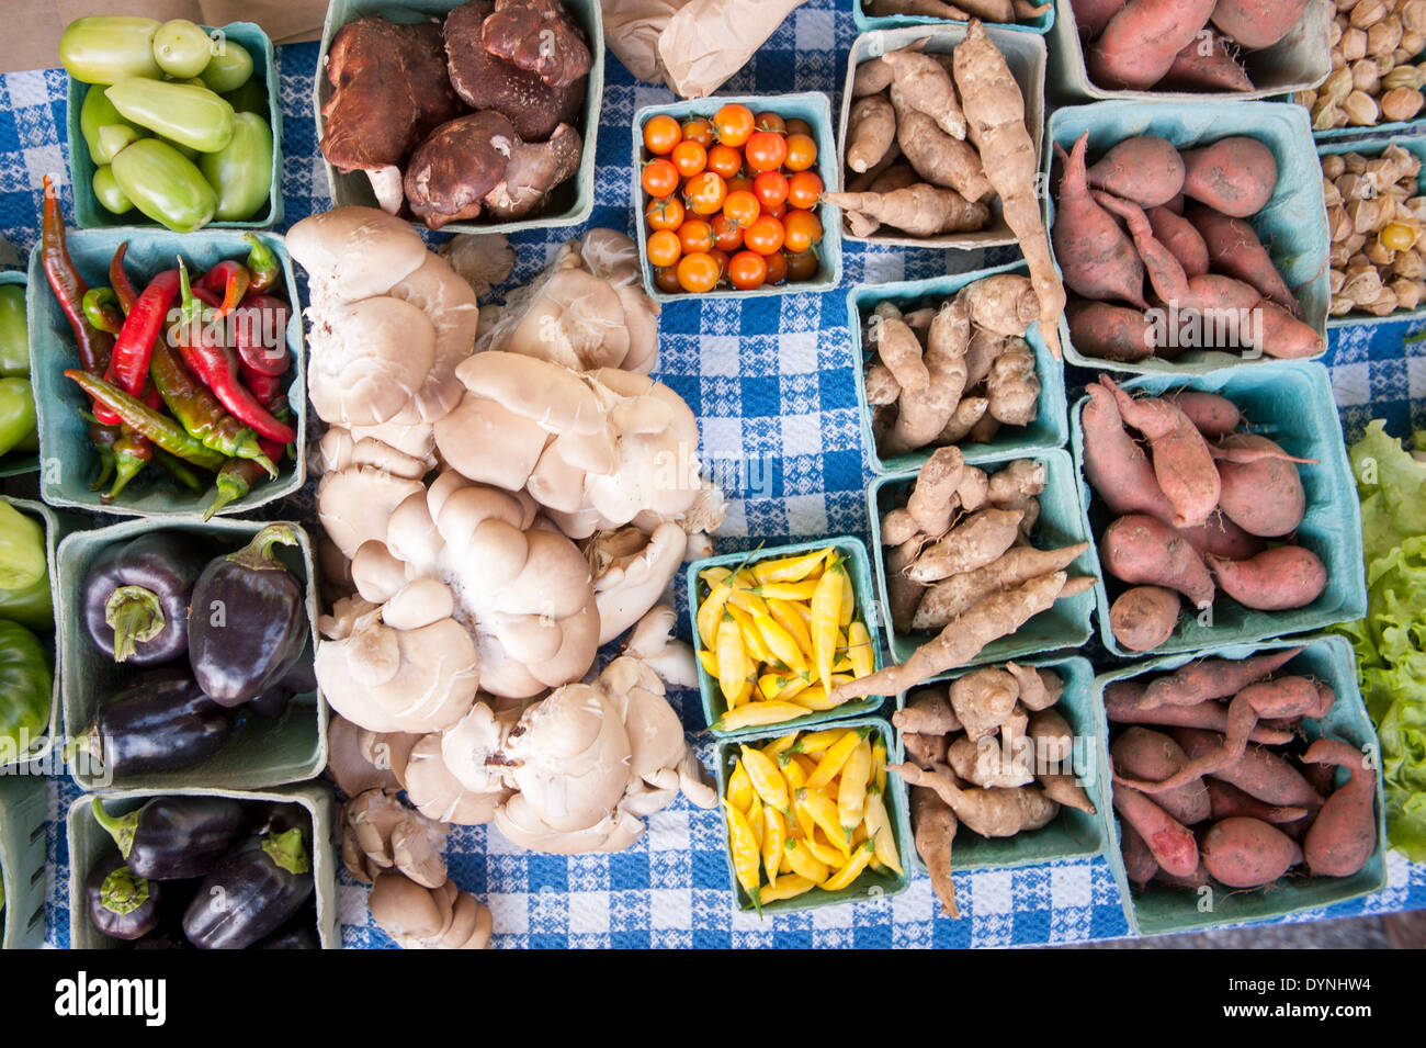
[[[302,583],[274,556],[297,545],[292,525],[268,525],[237,553],[214,559],[193,589],[188,660],[221,706],[241,706],[279,684],[307,649]]]

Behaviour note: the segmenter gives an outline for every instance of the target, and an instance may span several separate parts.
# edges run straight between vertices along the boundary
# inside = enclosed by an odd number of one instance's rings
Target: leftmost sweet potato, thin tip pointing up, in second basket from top
[[[1065,287],[1085,298],[1117,298],[1147,308],[1144,265],[1132,241],[1114,215],[1089,195],[1084,165],[1088,144],[1089,133],[1085,131],[1070,154],[1055,145],[1064,177],[1060,180],[1052,240]]]

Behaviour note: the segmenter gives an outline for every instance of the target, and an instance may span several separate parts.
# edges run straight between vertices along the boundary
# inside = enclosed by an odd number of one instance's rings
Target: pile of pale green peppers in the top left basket
[[[91,16],[66,27],[60,61],[90,84],[80,127],[106,211],[193,232],[267,208],[272,128],[265,104],[238,111],[241,91],[264,88],[240,43],[185,19]]]

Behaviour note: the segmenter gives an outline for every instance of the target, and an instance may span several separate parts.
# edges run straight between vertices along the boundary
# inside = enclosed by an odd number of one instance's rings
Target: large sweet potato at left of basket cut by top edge
[[[1101,87],[1147,90],[1214,13],[1215,0],[1129,0],[1089,47],[1087,64]]]

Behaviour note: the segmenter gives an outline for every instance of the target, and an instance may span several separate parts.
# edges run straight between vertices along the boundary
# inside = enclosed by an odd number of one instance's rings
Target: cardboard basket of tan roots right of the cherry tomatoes
[[[860,1],[860,0],[854,0]],[[1047,16],[1048,17],[1048,16]],[[847,58],[847,80],[841,93],[841,115],[837,123],[837,161],[834,174],[837,181],[827,183],[836,188],[844,188],[856,175],[847,171],[844,154],[847,148],[847,120],[851,114],[851,83],[857,76],[857,66],[887,51],[908,47],[920,40],[925,41],[924,50],[938,54],[948,54],[955,44],[965,38],[965,23],[937,21],[935,26],[903,26],[901,29],[887,29],[858,36],[851,44],[851,56]],[[1035,160],[1040,160],[1040,147],[1045,134],[1045,40],[1037,33],[1027,33],[1017,26],[985,26],[985,36],[1000,48],[1010,67],[1011,76],[1020,86],[1020,93],[1025,100],[1025,130],[1030,141],[1035,147]],[[840,222],[838,222],[840,225]],[[877,230],[870,237],[857,237],[850,230],[843,230],[848,241],[861,244],[881,244],[903,248],[957,248],[977,251],[992,247],[1008,247],[1018,244],[1015,234],[1001,214],[1000,198],[990,201],[990,224],[977,232],[944,232],[937,237],[910,237],[898,230]]]

